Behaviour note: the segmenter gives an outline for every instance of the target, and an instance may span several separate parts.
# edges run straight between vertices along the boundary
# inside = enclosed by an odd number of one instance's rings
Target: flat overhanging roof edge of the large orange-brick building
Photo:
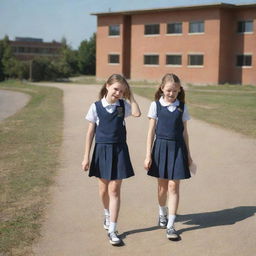
[[[98,12],[91,13],[91,15],[101,16],[101,15],[132,15],[132,14],[142,14],[142,13],[151,13],[151,12],[162,12],[162,11],[174,11],[174,10],[183,10],[183,9],[204,9],[204,8],[242,8],[242,7],[256,7],[255,4],[229,4],[229,3],[212,3],[212,4],[200,4],[200,5],[189,5],[189,6],[172,6],[172,7],[161,7],[153,9],[139,9],[139,10],[127,10],[127,11],[117,11],[117,12]]]

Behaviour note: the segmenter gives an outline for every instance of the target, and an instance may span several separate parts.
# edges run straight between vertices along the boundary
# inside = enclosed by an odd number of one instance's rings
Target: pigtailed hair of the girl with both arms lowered
[[[178,93],[177,99],[183,103],[185,103],[185,91],[183,87],[181,86],[180,79],[178,76],[172,73],[167,73],[163,78],[162,82],[159,85],[156,93],[155,93],[155,101],[158,101],[161,96],[163,95],[162,88],[165,86],[166,83],[171,82],[171,83],[176,83],[180,85],[180,92]]]

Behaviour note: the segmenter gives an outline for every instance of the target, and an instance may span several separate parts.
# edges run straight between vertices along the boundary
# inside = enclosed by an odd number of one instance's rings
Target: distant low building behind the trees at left
[[[19,60],[32,60],[36,57],[57,57],[61,43],[43,42],[41,38],[16,37],[10,41],[14,56]]]

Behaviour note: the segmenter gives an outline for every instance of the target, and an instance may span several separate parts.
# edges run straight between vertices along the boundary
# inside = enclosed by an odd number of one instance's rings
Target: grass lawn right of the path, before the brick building
[[[156,87],[134,87],[153,100]],[[192,86],[186,90],[190,114],[197,119],[256,138],[256,87],[239,85]]]

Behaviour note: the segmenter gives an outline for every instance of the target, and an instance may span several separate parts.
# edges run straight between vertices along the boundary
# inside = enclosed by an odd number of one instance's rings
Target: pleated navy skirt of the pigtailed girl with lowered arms
[[[148,175],[168,180],[190,178],[188,153],[184,140],[156,139]]]

